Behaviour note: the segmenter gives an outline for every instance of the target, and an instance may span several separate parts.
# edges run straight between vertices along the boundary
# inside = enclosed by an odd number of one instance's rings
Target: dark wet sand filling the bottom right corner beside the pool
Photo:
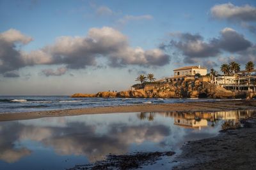
[[[243,128],[187,143],[173,169],[255,169],[256,115],[245,123]]]

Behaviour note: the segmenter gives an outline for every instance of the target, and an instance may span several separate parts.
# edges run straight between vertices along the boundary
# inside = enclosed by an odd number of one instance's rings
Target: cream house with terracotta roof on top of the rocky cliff
[[[180,67],[177,69],[173,69],[174,77],[175,76],[188,76],[188,75],[195,75],[197,73],[201,74],[201,76],[205,76],[207,74],[206,67],[199,66],[187,66],[187,67]]]

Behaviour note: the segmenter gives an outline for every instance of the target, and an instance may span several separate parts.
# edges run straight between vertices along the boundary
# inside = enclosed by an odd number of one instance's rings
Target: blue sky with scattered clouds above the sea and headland
[[[232,61],[256,64],[256,1],[0,0],[0,95],[128,90]]]

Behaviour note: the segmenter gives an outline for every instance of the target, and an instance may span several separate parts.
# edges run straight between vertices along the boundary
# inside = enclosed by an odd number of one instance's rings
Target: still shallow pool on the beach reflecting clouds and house
[[[252,111],[112,113],[0,122],[0,169],[66,169],[109,153],[174,151]],[[162,165],[164,164],[164,165]],[[170,158],[148,168],[170,169]]]

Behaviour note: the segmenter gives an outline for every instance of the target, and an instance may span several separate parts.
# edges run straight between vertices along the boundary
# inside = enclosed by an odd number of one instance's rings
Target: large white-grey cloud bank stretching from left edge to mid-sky
[[[148,17],[141,17],[148,18]],[[149,17],[150,18],[150,17]],[[159,48],[143,50],[132,48],[127,36],[111,27],[91,28],[86,36],[61,36],[52,45],[44,46],[32,52],[23,52],[15,48],[16,42],[28,43],[31,38],[19,31],[13,34],[2,33],[0,36],[0,73],[35,65],[64,65],[69,69],[81,69],[88,66],[97,67],[97,59],[104,57],[108,66],[124,67],[163,66],[170,62],[170,56]],[[65,70],[67,71],[67,70]],[[61,75],[65,71],[45,69],[45,75]]]

